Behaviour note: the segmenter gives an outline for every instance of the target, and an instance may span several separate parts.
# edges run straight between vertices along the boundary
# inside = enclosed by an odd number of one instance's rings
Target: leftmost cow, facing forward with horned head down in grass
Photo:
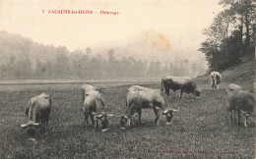
[[[48,126],[48,120],[51,109],[51,98],[49,95],[42,93],[34,96],[28,103],[26,115],[29,117],[29,123],[23,124],[21,127],[27,129],[26,132],[34,135],[35,127],[43,125],[44,129]]]

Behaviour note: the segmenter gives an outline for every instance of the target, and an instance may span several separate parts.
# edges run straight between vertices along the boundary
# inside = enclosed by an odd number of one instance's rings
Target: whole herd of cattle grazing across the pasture
[[[219,89],[222,76],[218,72],[210,75],[211,85],[213,89]],[[142,109],[153,109],[156,115],[155,124],[158,125],[160,113],[166,118],[166,125],[171,124],[173,112],[177,111],[170,108],[164,99],[164,94],[169,96],[169,90],[174,92],[180,89],[179,98],[182,93],[186,92],[194,94],[200,98],[200,88],[190,78],[186,77],[164,77],[161,79],[161,90],[153,89],[139,85],[133,85],[128,89],[126,95],[126,110],[120,118],[120,128],[126,129],[134,122],[134,118],[139,116],[139,124],[141,124]],[[104,102],[101,94],[95,86],[89,84],[82,85],[83,91],[83,110],[85,115],[85,123],[89,125],[89,118],[92,126],[96,130],[105,132],[109,128],[108,119],[113,117],[107,114],[104,109]],[[190,97],[190,96],[189,96]],[[238,124],[240,125],[241,114],[245,117],[244,127],[247,127],[248,116],[254,116],[255,100],[253,95],[236,84],[229,84],[226,89],[227,112],[230,114],[230,121],[235,120],[235,114],[238,114]],[[29,101],[26,115],[29,117],[27,124],[21,125],[26,132],[33,136],[35,129],[41,127],[46,129],[51,109],[51,97],[45,93],[32,97]],[[236,121],[235,121],[236,122]]]

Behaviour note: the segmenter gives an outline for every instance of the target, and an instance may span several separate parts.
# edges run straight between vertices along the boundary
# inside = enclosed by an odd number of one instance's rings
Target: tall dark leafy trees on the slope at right
[[[220,0],[224,11],[217,14],[199,51],[205,54],[209,71],[222,71],[254,56],[256,43],[256,1]]]

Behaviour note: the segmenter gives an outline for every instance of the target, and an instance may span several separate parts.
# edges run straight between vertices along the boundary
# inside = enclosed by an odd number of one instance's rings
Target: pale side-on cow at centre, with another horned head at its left
[[[134,118],[135,113],[139,115],[139,124],[141,124],[142,109],[150,108],[154,110],[156,115],[155,124],[158,125],[159,110],[161,114],[166,117],[166,125],[170,125],[173,118],[172,112],[177,111],[175,109],[165,109],[167,103],[163,98],[163,93],[159,89],[147,88],[139,85],[133,85],[128,89],[126,100],[125,115],[119,116],[121,129],[130,127],[131,120]]]

